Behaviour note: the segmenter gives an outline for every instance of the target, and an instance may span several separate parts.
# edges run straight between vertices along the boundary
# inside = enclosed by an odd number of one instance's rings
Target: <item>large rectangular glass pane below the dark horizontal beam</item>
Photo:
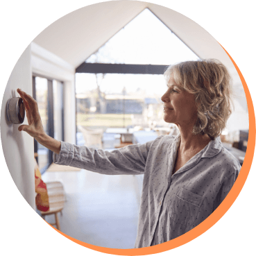
[[[162,75],[76,74],[78,144],[85,143],[80,126],[104,132],[108,128],[168,127],[160,99],[166,89]]]

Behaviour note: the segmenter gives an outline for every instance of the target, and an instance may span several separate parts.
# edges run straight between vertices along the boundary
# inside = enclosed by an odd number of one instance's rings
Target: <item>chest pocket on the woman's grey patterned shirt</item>
[[[198,214],[202,196],[181,188],[176,195],[173,196],[169,205],[169,217],[176,224],[191,225],[194,223]]]

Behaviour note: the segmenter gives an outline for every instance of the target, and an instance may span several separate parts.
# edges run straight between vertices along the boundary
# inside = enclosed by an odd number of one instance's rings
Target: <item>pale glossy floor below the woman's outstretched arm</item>
[[[95,246],[133,248],[143,176],[107,176],[91,171],[49,172],[44,182],[60,181],[67,202],[60,230]],[[54,222],[53,216],[46,221]]]

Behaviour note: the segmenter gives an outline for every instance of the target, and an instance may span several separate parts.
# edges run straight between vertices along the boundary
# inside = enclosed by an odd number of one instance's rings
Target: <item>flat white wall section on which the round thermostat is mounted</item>
[[[20,56],[8,79],[1,105],[1,144],[3,155],[12,180],[24,199],[35,210],[35,174],[33,138],[25,132],[19,132],[19,124],[6,122],[6,103],[17,97],[17,88],[32,94],[31,46]],[[25,118],[24,124],[28,121]]]

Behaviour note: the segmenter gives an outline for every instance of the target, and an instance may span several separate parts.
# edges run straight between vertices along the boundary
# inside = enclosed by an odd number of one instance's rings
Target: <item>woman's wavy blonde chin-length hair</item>
[[[219,60],[196,60],[171,65],[164,71],[169,81],[175,82],[195,95],[198,119],[193,127],[194,135],[207,134],[214,139],[221,135],[234,109],[231,77]]]

